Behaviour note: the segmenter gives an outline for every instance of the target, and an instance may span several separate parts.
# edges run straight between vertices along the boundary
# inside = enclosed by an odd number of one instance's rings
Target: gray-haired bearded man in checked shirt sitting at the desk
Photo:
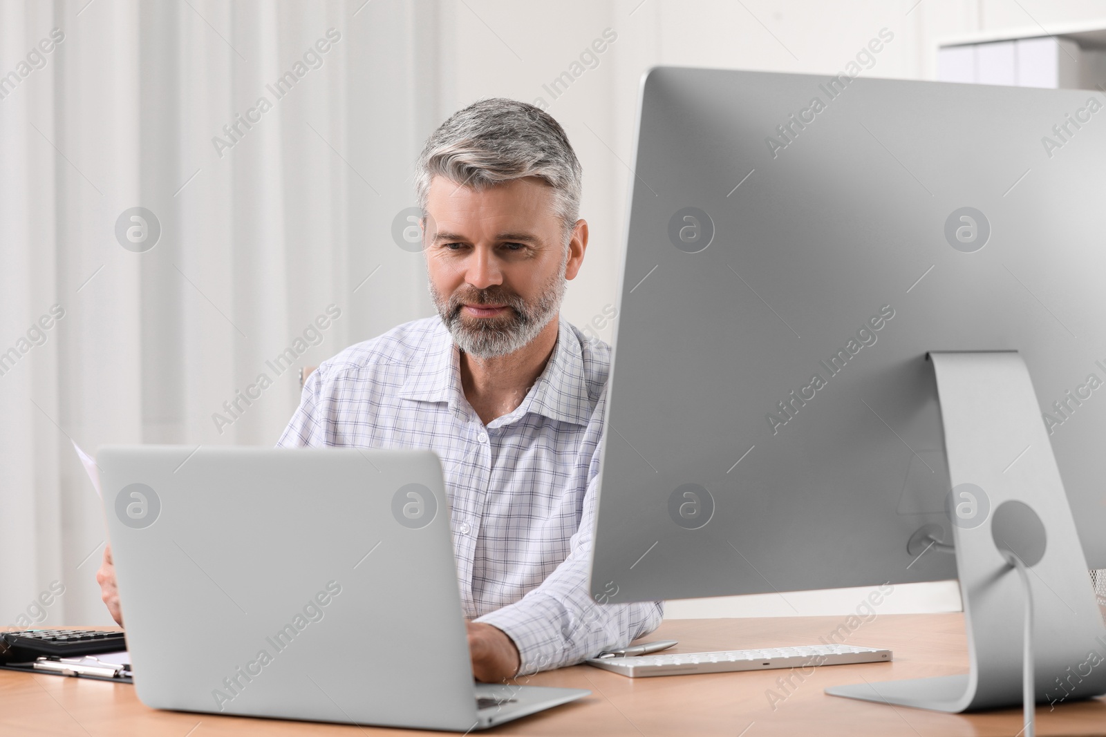
[[[438,316],[320,366],[279,445],[437,451],[478,680],[625,645],[661,603],[586,588],[609,347],[559,316],[587,248],[576,155],[546,113],[486,99],[430,136],[416,190]],[[109,549],[97,580],[122,623]]]

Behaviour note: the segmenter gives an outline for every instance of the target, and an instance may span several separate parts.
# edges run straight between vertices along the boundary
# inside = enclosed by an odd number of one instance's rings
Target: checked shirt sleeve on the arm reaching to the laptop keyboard
[[[575,665],[604,650],[624,647],[660,624],[660,601],[613,604],[606,603],[606,594],[595,599],[588,594],[598,457],[596,448],[568,557],[522,599],[476,620],[502,630],[514,641],[521,661],[518,675]]]

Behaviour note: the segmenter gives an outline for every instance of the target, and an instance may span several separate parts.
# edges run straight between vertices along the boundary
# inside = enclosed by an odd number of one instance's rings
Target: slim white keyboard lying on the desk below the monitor
[[[891,651],[854,645],[807,645],[764,650],[721,650],[713,653],[658,653],[629,657],[592,657],[588,665],[614,671],[630,678],[686,673],[768,671],[780,667],[889,663]]]

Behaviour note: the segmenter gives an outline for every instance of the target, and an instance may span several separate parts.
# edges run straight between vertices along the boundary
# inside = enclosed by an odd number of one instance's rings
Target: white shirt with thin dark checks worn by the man
[[[465,617],[511,636],[520,673],[572,665],[651,632],[662,612],[587,592],[609,367],[606,344],[561,319],[522,403],[484,425],[449,331],[428,317],[320,366],[278,445],[436,451]]]

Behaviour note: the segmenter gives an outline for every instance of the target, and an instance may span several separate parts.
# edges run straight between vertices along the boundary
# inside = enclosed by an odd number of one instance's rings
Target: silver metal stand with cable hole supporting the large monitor
[[[1036,701],[1057,705],[1106,693],[1106,627],[1029,369],[1016,351],[931,352],[929,358],[952,486],[950,524],[969,670],[834,686],[826,693],[953,713],[1021,704],[1025,606],[1019,575],[997,547],[1003,536],[1021,538],[1002,543],[1031,566]],[[1035,531],[1000,531],[994,512],[1008,502],[1035,513]]]

